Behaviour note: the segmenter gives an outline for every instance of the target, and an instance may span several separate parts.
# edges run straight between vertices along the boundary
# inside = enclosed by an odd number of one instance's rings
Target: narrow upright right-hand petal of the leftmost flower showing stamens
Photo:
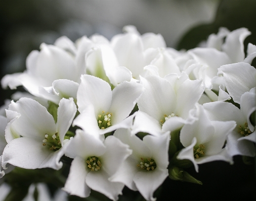
[[[56,131],[59,133],[60,142],[63,146],[64,137],[72,124],[76,114],[76,105],[73,98],[61,99],[58,107],[58,120],[56,123]]]

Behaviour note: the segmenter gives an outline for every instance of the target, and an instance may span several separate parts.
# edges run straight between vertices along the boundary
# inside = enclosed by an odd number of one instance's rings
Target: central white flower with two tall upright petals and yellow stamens
[[[143,86],[135,82],[122,82],[111,91],[110,85],[94,76],[81,76],[77,92],[80,114],[74,125],[94,136],[126,126],[123,121],[133,110]]]

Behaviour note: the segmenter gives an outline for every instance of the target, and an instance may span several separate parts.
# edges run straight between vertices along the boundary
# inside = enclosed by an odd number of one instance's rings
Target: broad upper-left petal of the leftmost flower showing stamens
[[[12,101],[9,110],[20,113],[20,117],[12,122],[11,129],[23,137],[44,139],[46,133],[56,132],[53,116],[37,101],[21,98],[16,103]]]

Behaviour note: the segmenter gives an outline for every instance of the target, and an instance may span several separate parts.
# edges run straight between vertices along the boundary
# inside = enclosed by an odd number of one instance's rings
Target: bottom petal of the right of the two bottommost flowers
[[[134,177],[135,185],[146,200],[156,200],[154,191],[162,184],[168,176],[168,170],[156,168],[153,171],[138,172]]]

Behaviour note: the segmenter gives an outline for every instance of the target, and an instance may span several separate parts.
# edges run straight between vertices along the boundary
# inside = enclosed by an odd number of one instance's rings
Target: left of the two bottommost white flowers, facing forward
[[[110,199],[118,199],[124,184],[110,182],[108,178],[131,154],[127,145],[113,136],[102,142],[78,129],[65,154],[74,159],[63,188],[65,191],[80,197],[88,197],[92,188]]]

